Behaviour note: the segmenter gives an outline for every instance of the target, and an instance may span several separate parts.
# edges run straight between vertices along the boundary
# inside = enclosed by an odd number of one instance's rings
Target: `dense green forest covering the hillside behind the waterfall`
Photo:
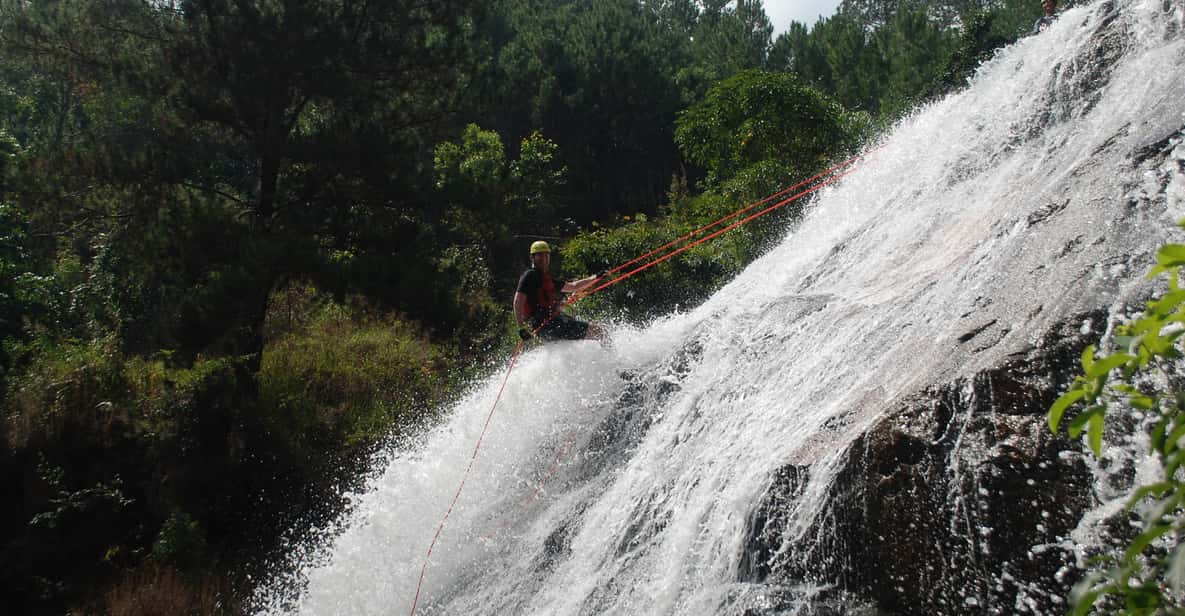
[[[620,264],[850,156],[1036,0],[0,4],[0,585],[238,612],[514,344],[536,239]],[[692,304],[796,212],[577,309]]]

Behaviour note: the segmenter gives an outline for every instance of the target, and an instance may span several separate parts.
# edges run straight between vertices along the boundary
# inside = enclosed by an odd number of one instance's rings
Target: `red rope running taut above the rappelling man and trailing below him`
[[[811,178],[807,178],[806,180],[802,180],[801,182],[795,184],[794,186],[790,186],[789,188],[784,188],[782,191],[779,191],[779,192],[776,192],[776,193],[774,193],[774,194],[771,194],[771,195],[769,195],[769,197],[767,197],[767,198],[764,198],[764,199],[762,199],[760,201],[749,204],[745,207],[742,207],[741,210],[737,210],[736,212],[732,212],[729,216],[725,216],[724,218],[720,218],[719,220],[716,220],[716,222],[713,222],[711,224],[704,225],[704,226],[702,226],[702,227],[699,227],[699,229],[697,229],[697,230],[694,230],[694,231],[692,231],[692,232],[690,232],[690,233],[687,233],[687,235],[685,235],[685,236],[683,236],[683,237],[680,237],[678,239],[667,242],[666,244],[664,244],[664,245],[661,245],[661,246],[659,246],[659,248],[656,248],[656,249],[654,249],[654,250],[652,250],[652,251],[649,251],[649,252],[647,252],[647,254],[645,254],[642,256],[635,257],[635,258],[633,258],[633,259],[630,259],[630,261],[628,261],[626,263],[622,263],[621,265],[617,265],[616,268],[613,268],[611,270],[609,270],[608,272],[606,272],[604,275],[602,275],[597,280],[608,277],[613,272],[621,271],[621,270],[628,268],[629,265],[633,265],[634,263],[643,261],[643,259],[646,259],[646,258],[648,258],[648,257],[651,257],[653,255],[656,255],[656,254],[659,254],[659,252],[661,252],[661,251],[664,251],[664,250],[666,250],[666,249],[668,249],[668,248],[671,248],[673,245],[679,244],[680,242],[685,242],[685,240],[694,237],[698,233],[702,233],[702,232],[704,232],[704,231],[706,231],[709,229],[712,229],[712,227],[715,227],[715,226],[717,226],[719,224],[723,224],[723,223],[725,223],[728,220],[731,220],[731,219],[734,219],[734,218],[736,218],[736,217],[738,217],[738,216],[741,216],[741,214],[743,214],[743,213],[745,213],[745,212],[748,212],[748,211],[750,211],[750,210],[752,210],[752,208],[755,208],[755,207],[757,207],[760,205],[763,205],[763,204],[767,204],[767,203],[769,203],[769,201],[771,201],[774,199],[777,199],[779,197],[782,197],[786,193],[788,193],[788,192],[790,192],[790,191],[793,191],[795,188],[806,186],[807,184],[811,184],[812,181],[814,181],[814,180],[816,180],[819,178],[822,178],[822,177],[826,177],[826,175],[831,175],[831,174],[835,173],[837,171],[839,171],[839,169],[841,169],[844,167],[850,166],[854,161],[857,161],[857,160],[859,160],[859,159],[861,159],[861,158],[871,154],[872,152],[875,152],[875,150],[870,150],[870,152],[866,152],[866,153],[852,156],[852,158],[845,160],[844,162],[840,162],[839,165],[835,165],[835,166],[833,166],[833,167],[831,167],[828,169],[819,172],[819,173],[812,175]],[[685,252],[685,251],[687,251],[687,250],[690,250],[690,249],[692,249],[692,248],[694,248],[694,246],[697,246],[699,244],[703,244],[704,242],[707,242],[709,239],[712,239],[712,238],[716,238],[716,237],[718,237],[718,236],[720,236],[723,233],[726,233],[726,232],[729,232],[729,231],[731,231],[731,230],[734,230],[734,229],[736,229],[736,227],[738,227],[741,225],[744,225],[744,224],[747,224],[747,223],[749,223],[749,222],[751,222],[751,220],[754,220],[756,218],[760,218],[762,216],[766,216],[769,212],[773,212],[773,211],[775,211],[775,210],[777,210],[780,207],[784,207],[786,205],[788,205],[790,203],[794,203],[794,201],[801,199],[802,197],[806,197],[807,194],[811,194],[811,193],[818,191],[819,188],[822,188],[824,186],[827,186],[830,184],[833,184],[833,182],[838,181],[840,178],[843,178],[843,177],[852,173],[852,171],[853,169],[847,169],[844,173],[831,175],[826,180],[824,180],[824,181],[821,181],[821,182],[819,182],[819,184],[816,184],[814,186],[811,186],[809,188],[807,188],[805,191],[801,191],[801,192],[794,194],[793,197],[783,199],[783,200],[781,200],[781,201],[779,201],[779,203],[776,203],[776,204],[774,204],[774,205],[771,205],[771,206],[769,206],[769,207],[767,207],[767,208],[764,208],[764,210],[762,210],[762,211],[760,211],[760,212],[757,212],[755,214],[750,214],[750,216],[743,218],[742,220],[732,223],[731,225],[725,226],[724,229],[720,229],[718,231],[715,231],[711,235],[704,236],[704,237],[702,237],[702,238],[699,238],[699,239],[697,239],[697,240],[694,240],[694,242],[692,242],[692,243],[690,243],[690,244],[687,244],[685,246],[681,246],[681,248],[679,248],[677,250],[667,252],[666,255],[662,255],[659,258],[655,258],[655,259],[653,259],[651,262],[643,263],[642,265],[639,265],[638,268],[634,268],[634,269],[627,271],[626,274],[623,274],[621,276],[611,278],[608,282],[606,282],[606,283],[603,283],[603,284],[594,288],[590,291],[575,293],[575,294],[572,294],[572,296],[566,302],[564,302],[563,306],[561,306],[559,310],[555,312],[555,314],[559,314],[564,308],[571,306],[572,303],[579,301],[583,297],[588,297],[589,295],[592,295],[592,294],[598,293],[601,290],[604,290],[604,289],[607,289],[609,287],[613,287],[614,284],[617,284],[619,282],[621,282],[621,281],[623,281],[626,278],[629,278],[629,277],[632,277],[632,276],[634,276],[634,275],[636,275],[636,274],[639,274],[641,271],[645,271],[645,270],[647,270],[649,268],[653,268],[654,265],[658,265],[659,263],[662,263],[664,261],[667,261],[667,259],[674,257],[675,255],[683,254],[683,252]],[[533,333],[536,335],[538,335],[539,331],[543,329],[543,327],[546,326],[547,322],[551,321],[551,319],[555,317],[555,314],[551,317],[549,317],[547,321],[544,321],[539,327],[537,327]],[[502,393],[506,391],[506,383],[511,378],[511,371],[514,370],[514,364],[515,364],[515,361],[518,361],[519,354],[521,354],[521,352],[523,352],[523,341],[519,341],[518,346],[514,348],[514,353],[511,355],[510,365],[506,367],[506,376],[502,377],[502,384],[501,384],[501,387],[499,387],[499,390],[498,390],[498,396],[494,397],[494,404],[491,405],[489,413],[486,415],[486,423],[481,428],[481,434],[478,435],[478,443],[474,445],[474,448],[473,448],[473,455],[469,457],[469,466],[466,467],[465,474],[461,476],[461,485],[457,486],[456,494],[453,495],[453,501],[449,502],[448,511],[444,512],[444,518],[441,519],[441,524],[436,527],[436,534],[433,535],[431,544],[429,544],[429,546],[428,546],[428,553],[424,556],[424,564],[419,569],[419,582],[416,584],[416,596],[415,596],[415,598],[411,602],[411,615],[412,616],[415,616],[415,614],[416,614],[416,607],[419,604],[419,593],[423,590],[424,576],[428,572],[428,563],[431,559],[433,550],[436,547],[436,541],[440,539],[441,533],[444,531],[444,522],[448,521],[449,515],[453,514],[453,509],[456,507],[457,500],[460,500],[460,498],[461,498],[461,492],[465,490],[465,483],[466,483],[466,481],[468,481],[469,473],[473,470],[473,464],[478,460],[478,450],[481,449],[481,441],[485,438],[486,431],[489,429],[489,422],[494,417],[494,410],[498,409],[498,403],[501,400]],[[531,494],[527,498],[527,500],[525,501],[525,503],[531,502],[532,500],[534,500],[538,496],[539,493],[543,492],[543,485],[546,483],[547,480],[551,479],[551,476],[556,473],[556,470],[558,470],[559,460],[568,453],[568,449],[571,447],[571,444],[572,444],[574,441],[575,441],[575,434],[570,436],[570,438],[568,441],[568,444],[565,444],[564,448],[561,450],[559,455],[556,458],[556,462],[551,466],[551,468],[549,469],[546,476],[539,482],[539,485],[536,488],[534,493]]]

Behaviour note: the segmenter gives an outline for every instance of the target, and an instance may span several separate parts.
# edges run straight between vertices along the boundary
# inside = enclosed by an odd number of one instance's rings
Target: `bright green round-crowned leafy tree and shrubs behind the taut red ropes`
[[[691,162],[707,171],[712,190],[692,197],[677,186],[662,217],[578,235],[563,248],[564,271],[577,276],[623,264],[803,180],[852,147],[865,122],[793,73],[739,72],[713,85],[677,124],[677,141]],[[758,256],[800,211],[801,204],[792,205],[691,248],[610,287],[587,301],[585,309],[642,320],[698,303]]]

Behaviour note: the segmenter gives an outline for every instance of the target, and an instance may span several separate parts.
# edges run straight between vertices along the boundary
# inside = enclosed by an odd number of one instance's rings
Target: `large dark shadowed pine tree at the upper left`
[[[75,240],[84,269],[90,251],[117,264],[107,325],[130,348],[257,365],[277,284],[356,284],[332,255],[430,275],[423,127],[459,91],[483,14],[469,0],[13,5],[2,30],[12,79],[55,95],[44,113],[18,116],[33,123],[20,134],[36,137],[21,204],[45,232]],[[57,135],[39,137],[49,127]],[[210,237],[214,227],[190,224],[196,214],[229,219],[228,232]],[[101,245],[78,245],[88,237]],[[201,271],[194,254],[212,246],[212,271]],[[168,296],[174,282],[198,296]],[[398,287],[384,299],[430,314],[427,302],[398,303],[417,297],[399,293],[417,276],[384,282]]]

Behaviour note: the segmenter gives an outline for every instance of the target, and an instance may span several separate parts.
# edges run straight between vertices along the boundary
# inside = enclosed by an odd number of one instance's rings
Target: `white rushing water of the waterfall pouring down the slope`
[[[1112,19],[1120,34],[1100,47]],[[747,519],[775,469],[813,463],[816,476],[903,396],[1134,293],[1185,216],[1179,165],[1161,169],[1167,188],[1129,168],[1133,150],[1185,126],[1181,26],[1179,0],[1071,8],[902,122],[703,306],[620,328],[609,348],[526,353],[416,614],[736,611]],[[1095,62],[1107,53],[1109,69]],[[1170,197],[1152,207],[1148,191]],[[960,336],[981,326],[995,344],[972,352]],[[411,611],[500,384],[356,496],[300,572],[296,611]],[[826,422],[847,428],[821,437]]]

